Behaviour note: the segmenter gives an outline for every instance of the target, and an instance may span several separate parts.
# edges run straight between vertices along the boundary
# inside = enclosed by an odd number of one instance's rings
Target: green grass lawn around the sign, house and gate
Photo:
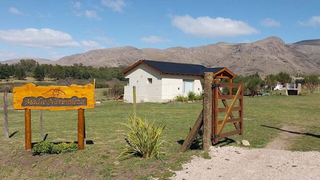
[[[96,91],[101,93],[101,91]],[[0,94],[1,95],[1,94]],[[9,98],[10,99],[10,98]],[[320,151],[320,93],[298,96],[244,97],[244,135],[230,136],[229,140],[247,139],[251,148],[264,147],[275,138],[282,124],[296,125],[308,133],[295,139],[291,150]],[[201,150],[177,153],[180,143],[195,122],[202,103],[161,104],[139,103],[137,115],[166,124],[166,139],[160,159],[131,158],[116,161],[119,149],[124,147],[122,133],[126,116],[132,104],[102,101],[94,109],[85,110],[86,144],[84,150],[65,154],[32,156],[24,151],[24,111],[8,110],[9,134],[0,136],[0,179],[148,179],[149,176],[167,178],[172,170],[191,155],[207,157]],[[40,140],[39,111],[31,110],[32,142]],[[0,119],[3,119],[0,110]],[[77,111],[43,111],[46,141],[61,142],[77,140]],[[268,126],[268,127],[267,127]],[[231,126],[230,126],[231,127]],[[272,128],[276,127],[276,128]],[[0,126],[3,133],[3,125]],[[221,139],[223,140],[223,139]],[[236,145],[234,142],[228,145]]]

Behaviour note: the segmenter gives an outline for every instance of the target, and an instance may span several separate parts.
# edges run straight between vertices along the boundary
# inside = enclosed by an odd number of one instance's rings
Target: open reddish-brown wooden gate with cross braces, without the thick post
[[[222,94],[220,87],[228,87],[229,94]],[[232,88],[237,88],[237,91],[232,95]],[[231,104],[227,103],[227,99],[232,100]],[[219,100],[222,101],[219,107]],[[238,104],[236,106],[236,101]],[[234,111],[238,112],[235,116]],[[219,112],[226,112],[224,116],[219,117]],[[221,114],[221,113],[220,113]],[[218,119],[223,117],[223,119]],[[235,130],[223,131],[225,124],[233,123]],[[217,143],[218,139],[224,138],[234,134],[243,135],[243,83],[230,83],[219,82],[218,79],[214,79],[212,83],[212,133],[211,140],[213,143]]]

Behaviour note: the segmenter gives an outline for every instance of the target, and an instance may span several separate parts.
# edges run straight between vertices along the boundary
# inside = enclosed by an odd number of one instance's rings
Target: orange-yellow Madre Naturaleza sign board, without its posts
[[[86,109],[93,108],[93,84],[70,86],[35,86],[32,83],[13,88],[15,109]]]

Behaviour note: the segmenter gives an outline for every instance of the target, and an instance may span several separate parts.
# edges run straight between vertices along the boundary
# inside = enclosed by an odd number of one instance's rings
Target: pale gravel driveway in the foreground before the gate
[[[171,179],[320,179],[320,152],[224,146],[194,157]]]

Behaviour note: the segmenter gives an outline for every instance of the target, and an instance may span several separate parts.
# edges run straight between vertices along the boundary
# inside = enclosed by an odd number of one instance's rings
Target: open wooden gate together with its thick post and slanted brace
[[[190,148],[201,126],[203,127],[203,150],[207,150],[212,143],[217,143],[220,138],[233,134],[243,135],[243,83],[232,83],[232,78],[235,77],[235,74],[233,73],[225,75],[222,72],[215,74],[212,72],[204,72],[203,77],[203,109],[183,141],[179,152],[184,152]],[[213,78],[215,79],[213,80]],[[229,79],[229,82],[218,83],[218,78]],[[219,89],[220,86],[229,87],[229,95],[223,95]],[[238,88],[235,95],[232,95],[232,87]],[[222,100],[224,107],[218,107],[219,99]],[[228,106],[226,99],[233,99],[230,106]],[[239,100],[239,106],[234,106],[237,99]],[[237,118],[232,114],[232,111],[234,110],[238,110],[239,116]],[[218,112],[227,112],[223,120],[218,120]],[[228,117],[230,118],[228,119]],[[236,130],[222,133],[226,123],[233,123]],[[220,125],[219,130],[218,125]]]

